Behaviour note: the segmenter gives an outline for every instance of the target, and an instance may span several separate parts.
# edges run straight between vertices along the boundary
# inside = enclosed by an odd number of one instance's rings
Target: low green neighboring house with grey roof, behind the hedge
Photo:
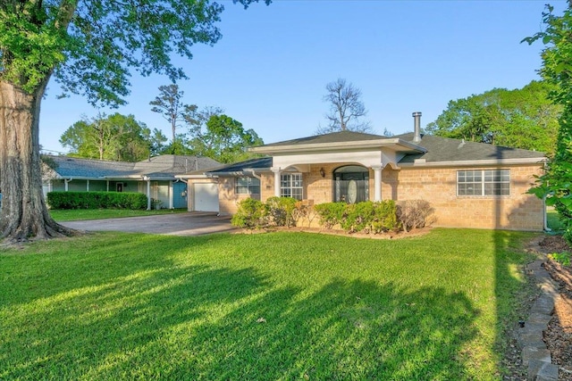
[[[187,207],[187,185],[175,175],[220,166],[209,158],[161,155],[141,162],[111,162],[46,156],[44,194],[52,191],[139,192],[161,200],[164,208]]]

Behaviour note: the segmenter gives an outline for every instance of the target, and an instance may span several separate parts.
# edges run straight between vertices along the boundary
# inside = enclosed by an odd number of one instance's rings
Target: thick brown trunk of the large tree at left
[[[0,80],[0,240],[21,242],[70,236],[49,215],[42,193],[39,157],[39,105],[35,94]]]

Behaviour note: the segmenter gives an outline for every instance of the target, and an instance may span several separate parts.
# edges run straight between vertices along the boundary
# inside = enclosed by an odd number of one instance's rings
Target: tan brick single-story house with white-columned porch
[[[543,200],[526,191],[543,153],[420,133],[395,137],[335,132],[251,148],[262,159],[179,176],[189,210],[231,214],[246,197],[291,196],[309,203],[422,199],[434,225],[543,230]]]

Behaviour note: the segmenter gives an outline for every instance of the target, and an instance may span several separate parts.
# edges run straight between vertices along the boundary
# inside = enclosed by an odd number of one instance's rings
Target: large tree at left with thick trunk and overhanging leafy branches
[[[49,79],[90,104],[124,104],[132,70],[185,78],[171,54],[192,58],[194,44],[217,42],[221,12],[209,0],[0,2],[0,238],[72,233],[50,217],[41,191],[39,108]]]

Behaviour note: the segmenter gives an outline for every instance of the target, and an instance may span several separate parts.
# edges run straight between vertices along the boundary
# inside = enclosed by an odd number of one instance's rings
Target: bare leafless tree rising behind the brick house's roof
[[[325,134],[334,131],[371,131],[366,116],[366,106],[361,100],[361,90],[346,79],[337,79],[326,85],[324,102],[330,104],[330,112],[326,114],[328,127],[318,128],[317,132]]]

